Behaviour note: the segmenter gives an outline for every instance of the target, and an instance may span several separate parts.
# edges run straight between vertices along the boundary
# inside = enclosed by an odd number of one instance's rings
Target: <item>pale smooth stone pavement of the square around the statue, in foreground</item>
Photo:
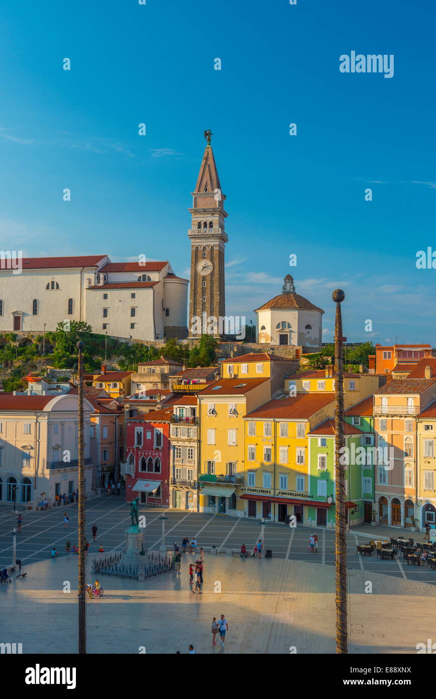
[[[92,558],[87,579],[92,582]],[[283,559],[205,556],[203,595],[189,589],[189,561],[174,572],[137,582],[101,576],[103,598],[87,600],[90,654],[298,654],[335,652],[335,571]],[[77,651],[77,557],[27,566],[27,579],[0,586],[0,642],[23,653]],[[364,592],[372,582],[372,593]],[[71,593],[64,593],[64,582]],[[221,583],[221,593],[214,591]],[[350,652],[416,653],[435,635],[436,589],[378,573],[349,572]],[[224,649],[212,647],[212,617],[225,614]]]

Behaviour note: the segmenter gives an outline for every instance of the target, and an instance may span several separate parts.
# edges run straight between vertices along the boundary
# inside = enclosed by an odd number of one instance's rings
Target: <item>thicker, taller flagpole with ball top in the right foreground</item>
[[[342,315],[341,302],[345,294],[335,289],[332,294],[336,303],[335,319],[335,564],[336,564],[336,653],[348,653],[347,630],[347,519],[345,514],[344,468],[344,368],[342,359]],[[343,460],[343,459],[342,459]]]

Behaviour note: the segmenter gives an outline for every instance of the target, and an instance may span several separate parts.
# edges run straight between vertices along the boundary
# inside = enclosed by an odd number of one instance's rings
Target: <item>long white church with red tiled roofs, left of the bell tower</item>
[[[54,331],[83,320],[94,333],[138,340],[187,337],[187,287],[168,261],[108,255],[22,259],[0,269],[0,332]]]

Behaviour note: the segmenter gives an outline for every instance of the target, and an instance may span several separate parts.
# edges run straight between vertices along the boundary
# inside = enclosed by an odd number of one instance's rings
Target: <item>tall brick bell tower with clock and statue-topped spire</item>
[[[221,192],[215,158],[210,145],[211,131],[205,131],[207,145],[192,195],[191,289],[189,292],[189,337],[209,333],[219,337],[226,315],[224,298],[224,229],[226,197]],[[208,319],[213,317],[215,326]],[[201,328],[200,328],[201,326]],[[222,330],[221,330],[222,333]]]

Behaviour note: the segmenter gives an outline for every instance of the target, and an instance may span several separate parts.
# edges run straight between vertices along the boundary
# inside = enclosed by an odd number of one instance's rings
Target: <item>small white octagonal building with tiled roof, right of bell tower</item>
[[[296,294],[293,278],[284,278],[282,294],[271,298],[257,313],[257,342],[270,345],[320,347],[322,316],[318,308],[304,296]]]

